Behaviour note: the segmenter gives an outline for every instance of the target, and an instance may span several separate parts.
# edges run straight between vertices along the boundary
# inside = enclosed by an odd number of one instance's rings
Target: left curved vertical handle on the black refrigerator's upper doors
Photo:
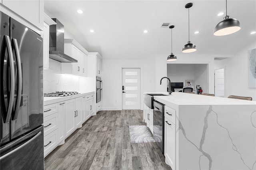
[[[13,55],[12,55],[12,45],[11,45],[11,41],[10,41],[10,37],[8,35],[4,35],[4,42],[6,43],[6,48],[7,48],[7,53],[8,53],[8,57],[9,57],[9,63],[10,63],[10,100],[9,100],[9,104],[8,104],[8,109],[7,109],[7,114],[6,117],[4,118],[4,123],[7,123],[10,121],[11,115],[12,115],[12,106],[13,106],[13,102],[14,102],[14,60],[13,60]],[[3,49],[2,49],[3,50]],[[4,56],[4,51],[1,51],[1,56]],[[3,74],[3,73],[2,73]],[[2,75],[1,75],[2,77]],[[2,90],[1,90],[2,91]]]

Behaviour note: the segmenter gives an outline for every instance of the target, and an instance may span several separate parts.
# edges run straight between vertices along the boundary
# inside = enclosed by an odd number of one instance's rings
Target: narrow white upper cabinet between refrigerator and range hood
[[[44,39],[44,69],[49,69],[49,34],[50,25],[55,25],[56,22],[52,20],[48,15],[44,14],[44,31],[41,33],[41,37]]]

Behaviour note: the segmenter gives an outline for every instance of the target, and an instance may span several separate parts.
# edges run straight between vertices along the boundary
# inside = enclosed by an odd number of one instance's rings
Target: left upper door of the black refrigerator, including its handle
[[[14,61],[9,16],[0,12],[0,144],[10,140],[10,116],[14,100]]]

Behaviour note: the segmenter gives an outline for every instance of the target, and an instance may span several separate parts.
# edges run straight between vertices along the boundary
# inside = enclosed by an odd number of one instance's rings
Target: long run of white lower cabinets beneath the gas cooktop
[[[94,115],[94,93],[44,106],[44,157]],[[22,109],[20,109],[21,111]],[[19,125],[21,127],[21,115]]]

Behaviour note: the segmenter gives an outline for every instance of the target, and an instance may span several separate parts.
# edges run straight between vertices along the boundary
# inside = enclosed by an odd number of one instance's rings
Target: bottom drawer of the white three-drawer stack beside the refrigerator
[[[58,145],[58,129],[44,137],[44,157],[47,156]]]

